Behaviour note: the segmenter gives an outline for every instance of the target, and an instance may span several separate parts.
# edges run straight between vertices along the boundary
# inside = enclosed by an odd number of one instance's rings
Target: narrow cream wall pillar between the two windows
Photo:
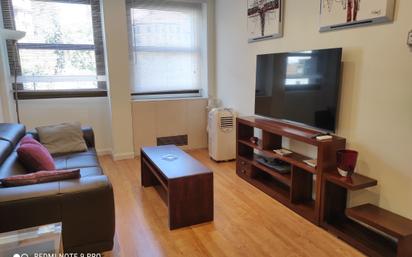
[[[101,0],[113,158],[134,157],[126,1]]]

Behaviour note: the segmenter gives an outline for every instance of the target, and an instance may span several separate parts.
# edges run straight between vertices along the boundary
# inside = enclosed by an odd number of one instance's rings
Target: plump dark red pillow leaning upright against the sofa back
[[[55,170],[54,160],[42,144],[30,136],[25,136],[17,148],[19,161],[30,172],[39,170]]]

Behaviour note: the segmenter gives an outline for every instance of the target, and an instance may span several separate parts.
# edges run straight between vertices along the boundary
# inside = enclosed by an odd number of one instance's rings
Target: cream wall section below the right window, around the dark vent
[[[158,137],[188,136],[183,149],[207,147],[207,98],[135,101],[132,104],[134,150],[154,146]]]

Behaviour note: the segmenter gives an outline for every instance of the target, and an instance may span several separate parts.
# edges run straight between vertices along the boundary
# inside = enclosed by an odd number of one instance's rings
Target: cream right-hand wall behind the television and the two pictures
[[[247,43],[246,0],[216,1],[217,91],[225,106],[254,112],[256,55],[343,47],[338,134],[360,152],[358,172],[379,186],[351,195],[412,218],[412,1],[393,23],[319,33],[319,0],[285,2],[284,37]]]

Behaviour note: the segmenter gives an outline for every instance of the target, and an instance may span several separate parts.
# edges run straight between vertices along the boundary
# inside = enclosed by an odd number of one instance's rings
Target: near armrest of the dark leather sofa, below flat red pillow
[[[65,249],[114,235],[114,197],[104,175],[0,188],[0,233],[63,222]],[[87,231],[88,238],[80,236]]]

